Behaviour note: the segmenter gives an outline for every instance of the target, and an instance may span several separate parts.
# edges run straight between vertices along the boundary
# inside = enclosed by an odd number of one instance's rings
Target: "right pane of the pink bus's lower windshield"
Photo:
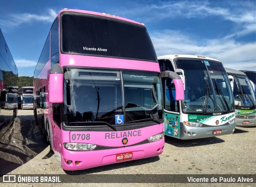
[[[162,119],[162,92],[156,73],[124,72],[126,122]]]

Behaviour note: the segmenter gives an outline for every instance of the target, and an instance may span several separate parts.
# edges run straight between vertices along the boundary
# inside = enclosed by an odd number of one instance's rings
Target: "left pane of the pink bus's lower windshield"
[[[65,76],[69,80],[64,85],[64,112],[69,123],[115,124],[115,115],[123,114],[120,72],[71,69]]]

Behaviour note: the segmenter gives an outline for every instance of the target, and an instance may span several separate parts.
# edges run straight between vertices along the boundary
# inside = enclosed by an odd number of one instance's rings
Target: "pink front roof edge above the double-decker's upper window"
[[[60,10],[60,12],[58,13],[58,16],[57,16],[58,18],[60,17],[60,14],[62,12],[77,12],[77,13],[92,14],[92,15],[108,17],[108,18],[111,17],[113,19],[118,19],[118,20],[123,20],[123,21],[127,21],[127,22],[132,22],[132,23],[144,26],[143,23],[136,22],[134,20],[130,20],[130,19],[127,19],[127,18],[122,18],[120,16],[115,16],[114,14],[106,14],[106,13],[100,13],[100,12],[92,12],[92,11],[88,11],[88,10],[76,10],[76,9],[68,9],[68,8],[64,8],[64,9]]]

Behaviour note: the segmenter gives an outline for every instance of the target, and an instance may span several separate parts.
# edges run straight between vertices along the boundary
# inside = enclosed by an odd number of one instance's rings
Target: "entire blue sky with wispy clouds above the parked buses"
[[[0,28],[19,76],[33,76],[63,8],[115,14],[145,24],[156,55],[197,54],[256,71],[255,0],[0,0]]]

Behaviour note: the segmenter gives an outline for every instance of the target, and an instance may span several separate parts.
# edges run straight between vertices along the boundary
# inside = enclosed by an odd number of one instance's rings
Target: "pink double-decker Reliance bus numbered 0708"
[[[163,115],[160,68],[144,24],[61,10],[34,71],[34,116],[61,167],[160,155]]]

